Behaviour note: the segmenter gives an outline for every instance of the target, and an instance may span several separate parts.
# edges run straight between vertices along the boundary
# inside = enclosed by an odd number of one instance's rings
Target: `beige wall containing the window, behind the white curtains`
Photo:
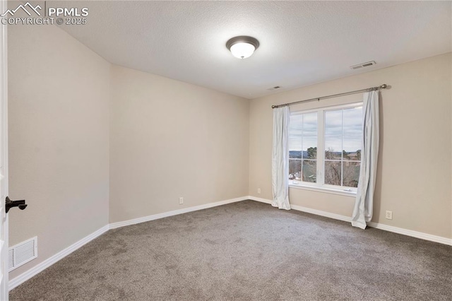
[[[381,92],[379,175],[372,221],[452,237],[451,54],[362,73],[251,100],[249,194],[271,199],[271,105],[359,90],[386,83]],[[355,102],[359,95],[309,102],[312,107]],[[261,194],[257,189],[261,188]],[[291,203],[351,216],[354,199],[290,189]],[[393,220],[384,212],[393,211]]]

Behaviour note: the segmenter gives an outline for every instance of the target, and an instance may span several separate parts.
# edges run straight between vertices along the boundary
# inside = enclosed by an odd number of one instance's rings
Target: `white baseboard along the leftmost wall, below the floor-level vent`
[[[91,240],[94,240],[96,237],[99,237],[100,235],[104,234],[108,231],[108,225],[103,226],[99,230],[91,233],[90,235],[83,237],[81,240],[76,242],[75,244],[71,244],[66,249],[58,252],[57,254],[54,254],[54,256],[42,261],[40,264],[37,264],[36,266],[33,266],[25,273],[20,274],[16,278],[11,279],[8,281],[8,290],[12,290],[13,288],[16,288],[16,286],[24,283],[25,281],[28,281],[28,279],[32,278],[32,276],[35,276],[37,273],[40,273],[41,271],[44,271],[44,269],[48,268],[49,266],[52,266],[52,264],[55,264],[57,261],[63,259],[64,257],[68,256],[72,252],[74,252],[76,249],[82,247],[83,245],[87,244]]]

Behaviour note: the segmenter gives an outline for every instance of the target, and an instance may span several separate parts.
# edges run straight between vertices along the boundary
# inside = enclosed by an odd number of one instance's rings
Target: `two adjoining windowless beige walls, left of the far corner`
[[[39,255],[10,278],[109,220],[248,193],[248,100],[112,66],[54,26],[11,26],[8,52],[9,195],[29,204],[9,244],[37,236]]]

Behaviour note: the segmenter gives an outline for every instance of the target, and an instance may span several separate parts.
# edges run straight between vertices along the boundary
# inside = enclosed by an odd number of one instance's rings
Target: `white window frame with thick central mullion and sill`
[[[311,191],[321,191],[332,194],[340,194],[345,196],[355,196],[356,187],[344,187],[338,185],[324,184],[325,175],[325,113],[333,110],[350,109],[353,107],[362,106],[362,102],[353,102],[345,105],[333,105],[329,107],[319,107],[311,110],[300,110],[291,112],[290,115],[306,114],[311,112],[317,112],[317,158],[316,158],[316,183],[303,182],[290,179],[289,186],[299,189],[307,189]]]

